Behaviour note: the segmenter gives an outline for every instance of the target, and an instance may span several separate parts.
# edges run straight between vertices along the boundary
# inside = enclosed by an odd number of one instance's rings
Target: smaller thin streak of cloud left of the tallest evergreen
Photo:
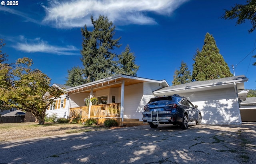
[[[53,55],[80,55],[80,50],[72,45],[67,45],[66,47],[49,45],[47,41],[43,41],[39,37],[35,39],[26,39],[23,35],[20,35],[18,40],[18,43],[13,47],[19,51],[28,53],[50,53]]]

